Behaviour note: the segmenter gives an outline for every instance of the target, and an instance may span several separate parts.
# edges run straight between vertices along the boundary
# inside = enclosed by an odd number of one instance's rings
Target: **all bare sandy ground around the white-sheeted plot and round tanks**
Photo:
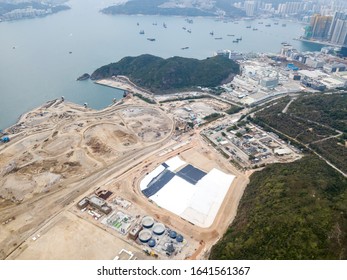
[[[179,230],[195,244],[184,257],[203,259],[235,217],[248,183],[249,174],[198,130],[173,137],[170,114],[137,98],[98,112],[54,101],[23,115],[9,131],[11,142],[0,146],[0,259],[112,259],[119,248],[146,258],[139,247],[78,214],[76,203],[97,188]],[[138,188],[147,172],[178,154],[203,170],[217,167],[236,176],[210,228],[159,208]]]

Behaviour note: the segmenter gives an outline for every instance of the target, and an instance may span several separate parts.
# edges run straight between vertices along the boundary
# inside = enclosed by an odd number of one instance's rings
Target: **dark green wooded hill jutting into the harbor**
[[[91,79],[125,75],[133,83],[159,94],[172,89],[216,87],[231,80],[239,71],[239,64],[222,56],[198,60],[177,56],[163,59],[144,54],[102,66]]]

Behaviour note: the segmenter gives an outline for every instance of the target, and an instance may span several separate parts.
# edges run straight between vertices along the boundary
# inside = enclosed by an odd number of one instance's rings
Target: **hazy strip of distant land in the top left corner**
[[[67,0],[46,1],[13,1],[0,0],[0,22],[26,18],[43,17],[60,11],[69,10],[70,7],[63,5]]]

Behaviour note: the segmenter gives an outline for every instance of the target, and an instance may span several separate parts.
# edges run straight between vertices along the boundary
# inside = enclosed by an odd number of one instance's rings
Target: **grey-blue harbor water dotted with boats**
[[[189,23],[184,17],[99,12],[114,2],[72,0],[68,11],[0,22],[0,129],[14,124],[24,112],[61,96],[78,104],[87,102],[95,109],[111,104],[113,98],[122,97],[121,90],[91,81],[77,82],[76,78],[124,56],[149,53],[202,59],[221,49],[278,53],[283,41],[302,51],[318,48],[293,40],[303,32],[303,26],[295,22],[285,22],[284,27],[284,21],[274,24],[271,19],[259,24],[259,20],[197,17]],[[233,42],[241,36],[241,41]]]

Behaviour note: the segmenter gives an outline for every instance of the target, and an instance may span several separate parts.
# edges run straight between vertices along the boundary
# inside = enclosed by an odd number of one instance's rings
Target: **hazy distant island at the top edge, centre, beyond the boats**
[[[102,10],[105,14],[165,15],[165,16],[227,16],[242,17],[245,12],[232,6],[229,0],[173,1],[130,0]]]

